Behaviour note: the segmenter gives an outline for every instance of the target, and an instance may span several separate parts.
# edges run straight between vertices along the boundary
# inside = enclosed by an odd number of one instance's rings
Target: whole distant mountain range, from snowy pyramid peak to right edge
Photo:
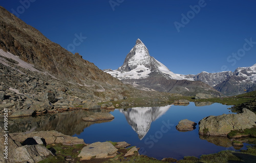
[[[237,95],[256,90],[255,65],[238,68],[234,72],[208,73],[203,71],[197,75],[175,74],[150,56],[143,42],[137,39],[121,67],[117,70],[103,71],[138,89],[183,95],[207,93],[219,96],[219,92],[224,95]]]

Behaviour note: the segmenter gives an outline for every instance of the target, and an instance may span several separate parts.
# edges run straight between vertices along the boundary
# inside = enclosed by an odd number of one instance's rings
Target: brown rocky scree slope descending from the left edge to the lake
[[[62,48],[0,7],[0,113],[37,113],[53,108],[89,108],[97,102],[162,98],[125,85],[93,63]],[[98,107],[98,106],[97,106]],[[28,113],[29,115],[32,112]]]

